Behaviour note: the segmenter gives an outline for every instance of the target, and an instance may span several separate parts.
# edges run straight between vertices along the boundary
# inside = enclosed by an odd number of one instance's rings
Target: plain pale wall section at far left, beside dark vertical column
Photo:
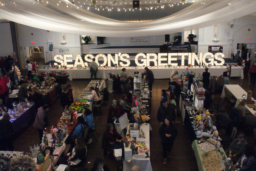
[[[0,23],[0,56],[13,56],[10,23]]]

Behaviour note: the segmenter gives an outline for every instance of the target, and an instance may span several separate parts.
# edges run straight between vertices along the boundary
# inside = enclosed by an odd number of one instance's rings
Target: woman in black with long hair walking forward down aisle
[[[166,165],[167,163],[167,155],[170,158],[171,150],[175,141],[175,138],[178,134],[177,128],[174,126],[171,118],[169,116],[166,116],[165,124],[162,124],[159,128],[159,134],[161,136],[161,144],[163,147],[163,165]]]

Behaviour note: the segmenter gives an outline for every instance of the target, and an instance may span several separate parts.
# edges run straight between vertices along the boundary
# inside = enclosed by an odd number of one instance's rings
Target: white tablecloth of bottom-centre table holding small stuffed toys
[[[129,131],[130,125],[127,127],[127,134]],[[149,143],[149,130],[151,130],[150,124],[141,124],[140,128],[146,135],[146,138],[140,137],[137,138],[139,141],[145,141],[147,147],[150,147]],[[149,151],[150,154],[150,151]],[[135,165],[139,166],[141,171],[152,171],[150,158],[142,158],[142,159],[132,159],[132,149],[129,147],[124,147],[124,160],[123,160],[123,171],[130,171],[131,168]]]

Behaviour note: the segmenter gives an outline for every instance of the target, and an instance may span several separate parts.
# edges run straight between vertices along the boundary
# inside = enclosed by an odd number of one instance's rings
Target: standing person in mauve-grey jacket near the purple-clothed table
[[[48,117],[46,115],[46,112],[49,110],[49,108],[50,107],[47,104],[38,108],[37,114],[36,114],[36,119],[33,124],[33,127],[36,127],[38,130],[40,142],[42,141],[43,130],[44,130],[46,124],[48,123]]]

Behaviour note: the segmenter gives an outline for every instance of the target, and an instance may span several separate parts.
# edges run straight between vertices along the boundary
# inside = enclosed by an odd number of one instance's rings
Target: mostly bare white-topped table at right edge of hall
[[[223,87],[223,90],[222,90],[222,93],[221,93],[221,97],[222,98],[225,98],[226,95],[225,95],[225,90],[224,89],[227,89],[230,93],[233,94],[233,96],[237,99],[236,101],[236,105],[238,105],[239,103],[239,99],[243,99],[242,98],[242,95],[245,94],[247,96],[247,92],[242,89],[242,87],[240,87],[238,84],[229,84],[229,85],[224,85]],[[252,100],[254,100],[254,98],[251,98]]]

